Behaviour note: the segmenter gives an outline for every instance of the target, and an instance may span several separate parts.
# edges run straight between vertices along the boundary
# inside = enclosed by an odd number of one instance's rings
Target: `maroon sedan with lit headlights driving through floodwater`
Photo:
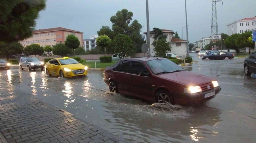
[[[215,79],[159,57],[120,60],[105,68],[104,81],[111,92],[179,105],[208,101],[221,90]]]

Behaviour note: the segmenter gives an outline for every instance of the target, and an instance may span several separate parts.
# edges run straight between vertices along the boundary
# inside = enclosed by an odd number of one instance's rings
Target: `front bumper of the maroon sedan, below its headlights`
[[[194,93],[194,94],[181,93],[181,94],[177,94],[174,102],[175,102],[175,104],[179,104],[179,105],[199,104],[199,103],[211,100],[212,98],[214,98],[220,92],[220,90],[221,90],[221,87],[218,86],[218,87],[215,87],[211,90],[203,91],[203,92],[200,92],[200,93]],[[206,94],[212,93],[214,91],[215,91],[215,95],[205,97]]]

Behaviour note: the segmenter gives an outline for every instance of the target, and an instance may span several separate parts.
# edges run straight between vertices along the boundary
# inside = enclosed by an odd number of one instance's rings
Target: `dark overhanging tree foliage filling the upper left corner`
[[[7,43],[31,37],[46,0],[1,0],[0,41]]]

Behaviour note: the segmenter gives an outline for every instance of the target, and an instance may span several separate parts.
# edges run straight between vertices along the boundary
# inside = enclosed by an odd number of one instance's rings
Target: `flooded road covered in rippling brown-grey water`
[[[245,76],[243,58],[199,61],[185,70],[211,76],[222,90],[200,105],[181,107],[109,93],[103,73],[60,79],[44,71],[0,70],[0,79],[134,143],[255,142],[256,76]]]

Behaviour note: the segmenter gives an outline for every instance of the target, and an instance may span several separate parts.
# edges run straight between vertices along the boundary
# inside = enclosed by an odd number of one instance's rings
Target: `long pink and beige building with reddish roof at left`
[[[20,41],[20,43],[24,47],[31,44],[39,44],[43,47],[46,45],[54,46],[57,43],[65,43],[67,36],[70,34],[77,36],[81,46],[83,46],[83,32],[62,27],[34,30],[31,38]]]

